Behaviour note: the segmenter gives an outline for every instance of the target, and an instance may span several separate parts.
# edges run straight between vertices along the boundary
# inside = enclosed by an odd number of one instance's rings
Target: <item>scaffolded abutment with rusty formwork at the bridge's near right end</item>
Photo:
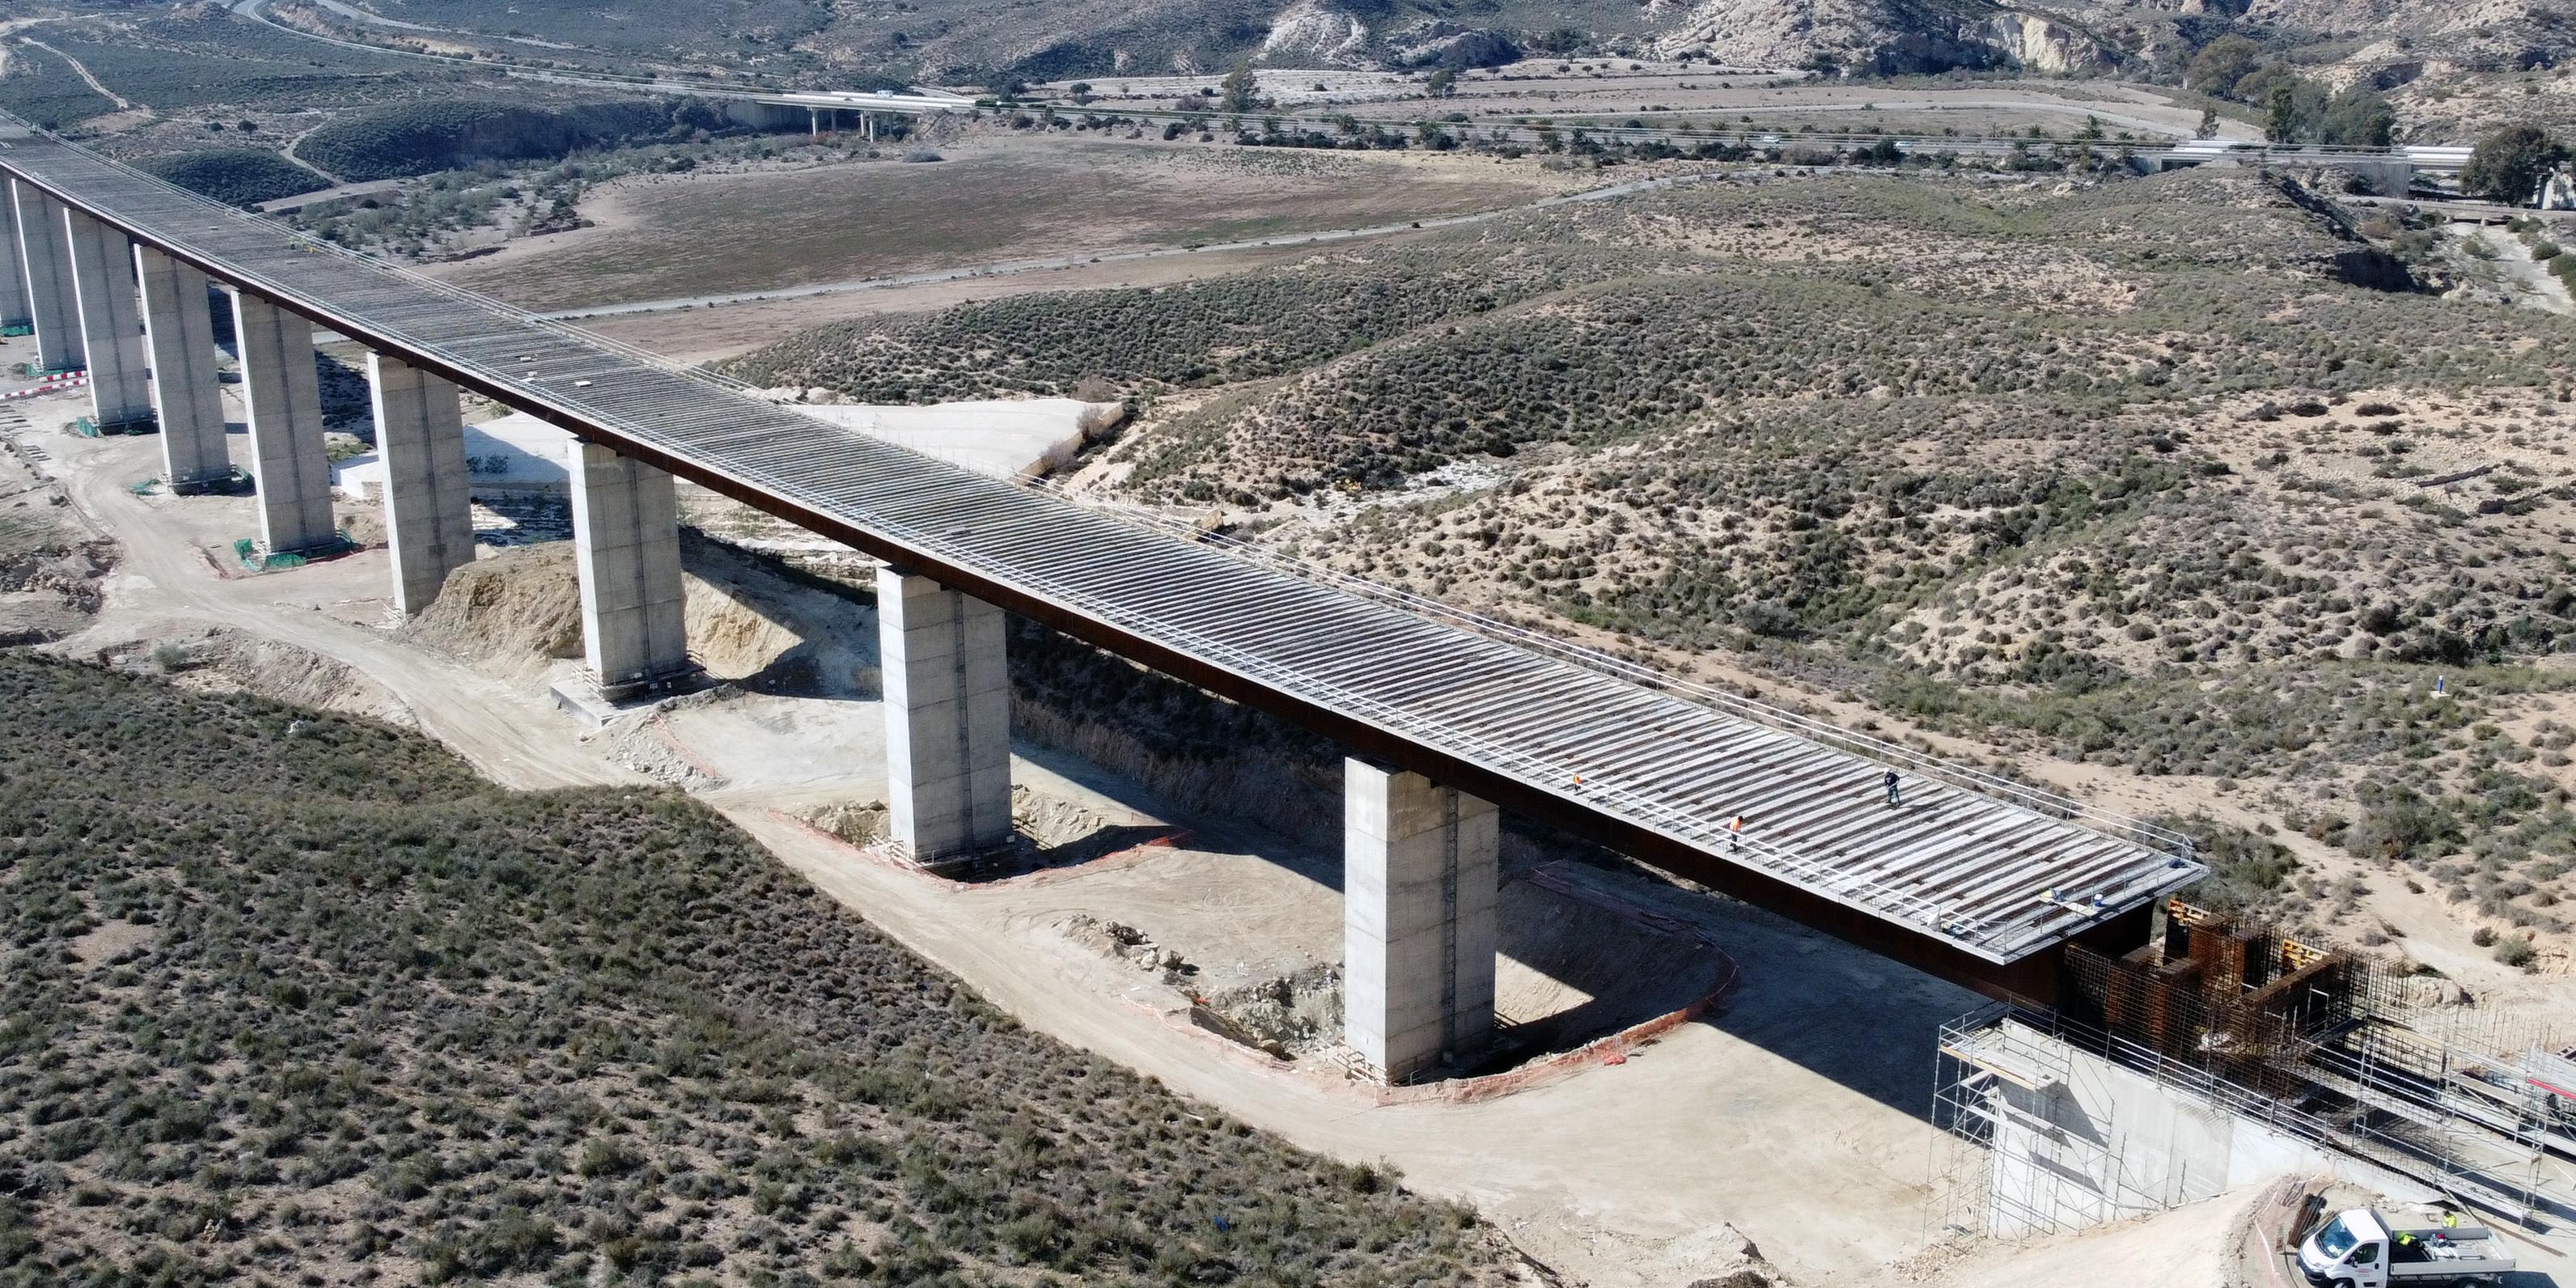
[[[2391,963],[2174,902],[2148,948],[2071,948],[2058,1010],[1999,1002],[1942,1028],[1927,1226],[2048,1234],[2205,1198],[2187,1180],[2133,1180],[2117,1123],[2087,1136],[2050,1118],[2079,1051],[2460,1206],[2563,1224],[2576,1218],[2568,1043],[2566,1025],[2439,1005]],[[1996,1146],[2025,1167],[1996,1167]]]

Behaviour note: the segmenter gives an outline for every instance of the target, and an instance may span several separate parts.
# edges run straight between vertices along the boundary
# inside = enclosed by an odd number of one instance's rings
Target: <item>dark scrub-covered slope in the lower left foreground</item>
[[[0,657],[0,1283],[1499,1283],[670,791]]]

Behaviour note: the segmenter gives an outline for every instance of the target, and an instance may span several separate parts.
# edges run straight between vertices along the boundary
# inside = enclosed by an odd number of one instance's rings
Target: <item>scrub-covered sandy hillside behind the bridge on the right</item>
[[[2429,245],[2287,175],[1739,178],[742,371],[1113,381],[1146,407],[1087,487],[2069,786],[2187,781],[2138,791],[2550,938],[2576,322],[2432,296]]]

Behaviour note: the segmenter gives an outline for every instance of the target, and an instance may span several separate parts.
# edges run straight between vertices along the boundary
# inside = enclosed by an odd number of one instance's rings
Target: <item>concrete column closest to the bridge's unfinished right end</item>
[[[1489,801],[1342,762],[1342,1038],[1388,1082],[1494,1036],[1499,850]]]

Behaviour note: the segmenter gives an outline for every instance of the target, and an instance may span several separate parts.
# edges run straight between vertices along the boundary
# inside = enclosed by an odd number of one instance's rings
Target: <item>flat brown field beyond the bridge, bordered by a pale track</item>
[[[1492,157],[1280,152],[984,131],[948,160],[649,175],[603,185],[595,227],[438,265],[515,304],[577,309],[1515,206],[1574,183]],[[747,234],[757,229],[757,234]]]

